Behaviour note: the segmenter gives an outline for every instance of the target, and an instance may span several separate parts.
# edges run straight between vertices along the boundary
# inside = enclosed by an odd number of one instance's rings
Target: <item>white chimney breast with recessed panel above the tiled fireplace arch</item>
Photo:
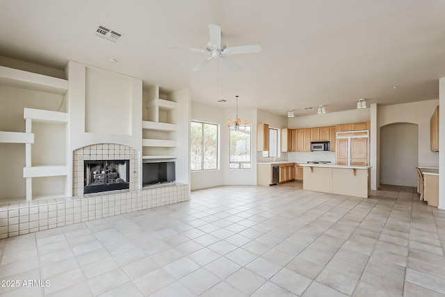
[[[88,75],[87,75],[88,74]],[[104,75],[106,74],[106,75]],[[96,143],[118,143],[132,147],[134,150],[142,150],[142,80],[126,77],[122,74],[115,74],[70,61],[67,65],[67,77],[69,82],[69,113],[70,113],[70,152]],[[118,93],[109,93],[109,78],[113,78],[113,84],[120,84],[113,87]],[[87,86],[88,84],[88,86]],[[97,104],[104,102],[101,95],[106,95],[108,102],[122,100],[122,104],[108,105],[107,112],[117,117],[120,114],[122,127],[117,131],[104,131],[104,126],[108,120],[100,122],[95,118],[106,117],[96,115]],[[121,96],[129,98],[122,99]],[[88,131],[92,125],[100,125],[100,128]],[[114,124],[113,124],[114,125]],[[114,126],[113,126],[114,127]]]

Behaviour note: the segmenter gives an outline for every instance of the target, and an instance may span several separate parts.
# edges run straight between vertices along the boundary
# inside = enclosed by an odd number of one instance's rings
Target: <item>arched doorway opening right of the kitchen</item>
[[[398,122],[380,128],[380,184],[416,186],[419,125]]]

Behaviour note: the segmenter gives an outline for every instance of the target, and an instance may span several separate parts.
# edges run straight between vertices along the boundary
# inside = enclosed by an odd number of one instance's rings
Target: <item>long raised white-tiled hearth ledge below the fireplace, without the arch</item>
[[[0,239],[188,199],[188,185],[176,183],[0,205]]]

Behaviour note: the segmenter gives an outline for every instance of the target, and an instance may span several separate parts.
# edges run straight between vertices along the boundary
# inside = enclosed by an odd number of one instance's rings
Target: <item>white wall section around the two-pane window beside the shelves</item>
[[[191,102],[191,120],[209,122],[220,125],[220,168],[218,170],[193,171],[191,172],[191,189],[210,188],[212,186],[224,185],[224,167],[225,152],[227,147],[223,145],[227,143],[227,118],[224,109],[214,106],[207,106]]]

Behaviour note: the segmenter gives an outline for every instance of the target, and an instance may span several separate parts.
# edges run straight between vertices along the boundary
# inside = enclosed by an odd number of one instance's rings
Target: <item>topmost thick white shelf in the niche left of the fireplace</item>
[[[0,83],[60,95],[64,95],[68,90],[68,81],[66,79],[48,77],[5,66],[0,66]]]

